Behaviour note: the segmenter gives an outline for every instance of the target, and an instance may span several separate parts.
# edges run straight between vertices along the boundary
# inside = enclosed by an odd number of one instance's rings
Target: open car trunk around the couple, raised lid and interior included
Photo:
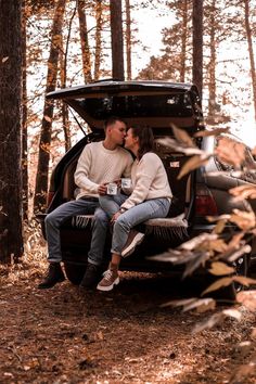
[[[50,190],[54,193],[48,212],[60,204],[74,199],[76,185],[74,172],[82,148],[90,141],[104,137],[104,121],[117,115],[128,126],[143,124],[152,127],[155,139],[174,137],[172,126],[184,129],[188,133],[204,128],[199,91],[190,84],[164,81],[99,81],[92,85],[62,89],[47,95],[67,103],[87,124],[90,132],[78,142],[59,163],[52,178]],[[124,260],[121,268],[130,270],[159,270],[159,263],[150,261],[149,256],[159,254],[168,247],[175,247],[188,239],[190,219],[194,206],[194,172],[178,180],[177,176],[188,157],[175,153],[156,141],[155,152],[162,158],[174,200],[166,219],[156,219],[143,223],[140,230],[146,233],[136,252]],[[63,260],[68,268],[68,279],[74,283],[81,278],[79,268],[85,266],[91,241],[91,217],[77,216],[66,221],[61,228]],[[111,233],[107,236],[105,254],[111,257]],[[75,255],[75,257],[74,257]],[[106,263],[108,258],[106,257]],[[156,268],[154,268],[154,266]],[[171,267],[171,266],[169,266]],[[163,269],[168,268],[163,264]],[[171,267],[172,269],[172,267]],[[82,268],[80,274],[84,274]]]

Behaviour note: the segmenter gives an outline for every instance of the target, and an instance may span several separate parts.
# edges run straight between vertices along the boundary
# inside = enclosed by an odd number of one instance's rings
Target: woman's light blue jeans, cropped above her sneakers
[[[126,199],[127,196],[124,195],[117,195],[114,197],[101,196],[99,201],[102,209],[105,210],[108,217],[112,217],[119,209],[119,206]],[[169,199],[152,199],[146,200],[121,214],[113,226],[111,252],[120,255],[132,227],[149,219],[166,217],[169,207]]]

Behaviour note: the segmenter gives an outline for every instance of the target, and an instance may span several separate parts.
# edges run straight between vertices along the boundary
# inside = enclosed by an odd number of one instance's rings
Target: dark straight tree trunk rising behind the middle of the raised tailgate
[[[111,0],[112,77],[125,79],[121,0]]]

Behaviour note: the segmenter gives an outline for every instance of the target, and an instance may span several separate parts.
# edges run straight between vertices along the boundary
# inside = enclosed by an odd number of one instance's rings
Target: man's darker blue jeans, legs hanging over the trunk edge
[[[92,239],[88,253],[88,261],[101,265],[105,238],[110,219],[103,209],[100,208],[98,201],[87,201],[79,199],[60,205],[46,217],[46,233],[48,241],[48,261],[62,261],[60,227],[63,222],[76,215],[93,215]]]

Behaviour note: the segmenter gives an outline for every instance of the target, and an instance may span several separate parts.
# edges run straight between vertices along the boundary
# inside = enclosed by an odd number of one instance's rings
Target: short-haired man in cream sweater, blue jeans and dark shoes
[[[106,183],[130,177],[132,157],[123,149],[126,137],[126,124],[118,117],[111,117],[105,121],[105,139],[87,144],[78,159],[75,171],[75,182],[79,193],[75,201],[60,205],[46,218],[46,233],[48,241],[49,270],[39,289],[50,289],[65,280],[61,268],[62,253],[60,227],[76,215],[92,215],[92,239],[88,253],[88,265],[80,285],[93,286],[99,279],[103,251],[108,227],[108,217],[100,208],[99,195],[106,194]]]

